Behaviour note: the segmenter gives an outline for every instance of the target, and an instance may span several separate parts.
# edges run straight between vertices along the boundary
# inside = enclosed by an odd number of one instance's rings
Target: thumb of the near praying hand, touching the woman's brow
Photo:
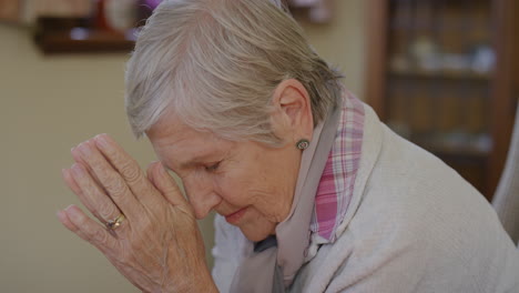
[[[147,176],[171,204],[189,205],[175,180],[166,172],[161,162],[154,162],[149,166]]]

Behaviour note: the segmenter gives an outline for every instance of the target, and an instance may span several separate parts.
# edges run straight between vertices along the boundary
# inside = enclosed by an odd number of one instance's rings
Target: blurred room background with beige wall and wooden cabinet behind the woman
[[[160,0],[0,0],[0,292],[139,292],[55,212],[70,149],[110,133],[145,168],[124,64]],[[315,50],[400,135],[491,199],[519,95],[515,0],[288,1]],[[200,222],[212,265],[212,216]]]

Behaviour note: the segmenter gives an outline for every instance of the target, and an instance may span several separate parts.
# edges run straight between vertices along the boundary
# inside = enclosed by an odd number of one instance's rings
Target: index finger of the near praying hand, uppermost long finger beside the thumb
[[[99,151],[121,174],[135,198],[144,205],[160,204],[160,196],[153,184],[147,180],[139,164],[108,134],[99,134],[93,139]]]

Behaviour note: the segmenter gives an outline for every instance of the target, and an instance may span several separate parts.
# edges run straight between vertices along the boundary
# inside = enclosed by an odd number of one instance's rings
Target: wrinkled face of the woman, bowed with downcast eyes
[[[292,143],[223,140],[167,115],[146,134],[162,163],[182,179],[197,219],[215,210],[248,240],[261,241],[288,215],[302,156]]]

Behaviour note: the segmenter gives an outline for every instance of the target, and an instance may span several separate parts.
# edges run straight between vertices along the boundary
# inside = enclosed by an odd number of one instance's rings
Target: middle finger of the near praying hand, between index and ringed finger
[[[129,219],[139,216],[141,214],[141,204],[135,199],[125,180],[113,169],[98,148],[84,142],[77,148],[77,151],[98,176],[106,195],[112,199],[119,210]]]

